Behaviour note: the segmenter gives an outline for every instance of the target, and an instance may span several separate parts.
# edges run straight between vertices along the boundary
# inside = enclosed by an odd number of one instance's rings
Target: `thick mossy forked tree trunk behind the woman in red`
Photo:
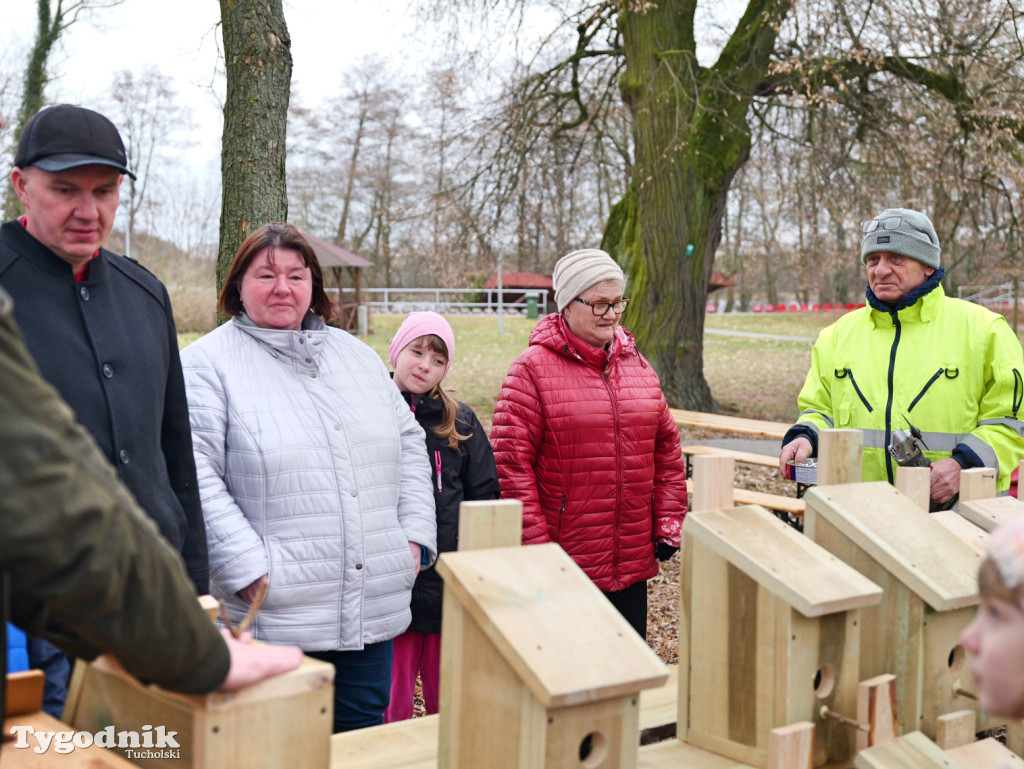
[[[745,115],[790,5],[751,0],[718,62],[705,70],[695,55],[696,0],[621,0],[620,86],[636,158],[604,245],[630,273],[624,323],[675,407],[715,404],[702,360],[708,279],[729,184],[750,153]]]

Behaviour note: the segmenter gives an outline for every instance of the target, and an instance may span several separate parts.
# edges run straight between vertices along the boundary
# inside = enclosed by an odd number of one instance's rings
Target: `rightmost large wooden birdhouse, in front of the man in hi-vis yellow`
[[[977,711],[957,690],[971,688],[959,634],[979,602],[981,554],[885,482],[817,486],[804,499],[804,532],[885,591],[862,612],[861,676],[895,675],[902,729],[935,739],[939,716]],[[992,723],[979,713],[979,728]]]

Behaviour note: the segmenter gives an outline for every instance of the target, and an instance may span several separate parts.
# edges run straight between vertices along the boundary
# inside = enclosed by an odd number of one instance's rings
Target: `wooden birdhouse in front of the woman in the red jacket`
[[[441,769],[632,769],[668,669],[557,545],[441,556]]]

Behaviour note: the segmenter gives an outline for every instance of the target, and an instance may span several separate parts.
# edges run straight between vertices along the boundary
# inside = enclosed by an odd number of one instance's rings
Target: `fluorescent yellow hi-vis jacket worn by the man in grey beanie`
[[[1005,493],[1024,457],[1022,369],[1006,318],[946,297],[939,284],[895,313],[868,305],[821,331],[786,439],[860,428],[863,479],[892,483],[897,464],[887,446],[909,421],[929,460],[955,453],[962,465],[996,468],[996,492]]]

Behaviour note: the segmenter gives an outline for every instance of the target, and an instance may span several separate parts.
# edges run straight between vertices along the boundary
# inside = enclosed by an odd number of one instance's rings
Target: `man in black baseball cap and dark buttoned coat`
[[[43,377],[202,594],[206,529],[171,303],[148,270],[103,248],[127,161],[118,129],[99,113],[59,104],[33,117],[11,172],[26,215],[0,226],[0,286]],[[59,679],[47,676],[57,714]]]

